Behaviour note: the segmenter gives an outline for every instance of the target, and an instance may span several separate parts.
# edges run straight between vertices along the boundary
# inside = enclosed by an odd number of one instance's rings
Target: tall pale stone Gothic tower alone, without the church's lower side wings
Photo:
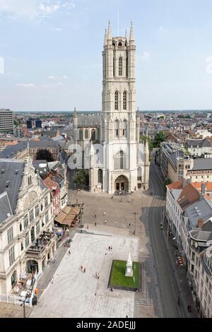
[[[110,22],[102,52],[103,191],[134,191],[138,179],[139,119],[136,119],[136,46],[131,23],[129,40],[112,37]]]

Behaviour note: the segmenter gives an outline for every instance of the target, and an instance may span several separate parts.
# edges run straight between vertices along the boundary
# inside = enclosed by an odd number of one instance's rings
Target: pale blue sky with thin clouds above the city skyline
[[[136,40],[136,107],[212,109],[212,0],[0,0],[0,109],[99,111],[102,47]]]

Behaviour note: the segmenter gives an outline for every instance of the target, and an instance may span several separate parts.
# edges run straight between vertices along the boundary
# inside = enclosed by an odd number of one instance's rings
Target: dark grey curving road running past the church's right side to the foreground
[[[183,317],[182,307],[177,304],[179,289],[173,271],[170,256],[167,251],[165,234],[160,230],[160,221],[165,207],[165,201],[157,196],[165,196],[163,181],[158,175],[158,170],[151,163],[150,170],[151,191],[153,191],[153,202],[148,210],[148,232],[153,251],[153,261],[158,284],[158,296],[160,301],[161,315],[165,318]]]

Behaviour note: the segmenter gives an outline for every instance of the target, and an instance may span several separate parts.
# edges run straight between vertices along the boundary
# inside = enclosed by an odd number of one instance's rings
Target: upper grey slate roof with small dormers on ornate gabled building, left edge
[[[18,191],[22,184],[24,167],[25,162],[0,159],[0,194],[7,192],[13,213],[18,201]],[[8,187],[6,182],[9,182]]]

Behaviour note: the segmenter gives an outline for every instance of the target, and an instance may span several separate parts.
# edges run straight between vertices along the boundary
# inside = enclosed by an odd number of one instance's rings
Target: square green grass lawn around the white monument
[[[126,277],[126,261],[112,261],[109,287],[125,290],[139,289],[140,285],[140,264],[133,262],[133,277]]]

